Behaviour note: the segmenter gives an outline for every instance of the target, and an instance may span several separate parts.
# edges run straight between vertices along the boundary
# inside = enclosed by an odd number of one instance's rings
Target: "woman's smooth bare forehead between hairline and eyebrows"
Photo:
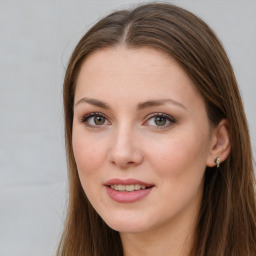
[[[195,85],[176,60],[149,47],[104,48],[89,55],[77,78],[79,97],[126,102],[170,96],[187,104],[202,101]],[[136,96],[136,97],[135,97]],[[107,98],[106,98],[107,97]]]

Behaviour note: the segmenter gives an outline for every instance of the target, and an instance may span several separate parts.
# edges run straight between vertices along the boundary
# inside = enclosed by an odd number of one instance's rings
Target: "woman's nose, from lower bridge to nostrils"
[[[127,169],[142,163],[143,153],[138,144],[136,133],[127,126],[116,129],[109,150],[111,164]]]

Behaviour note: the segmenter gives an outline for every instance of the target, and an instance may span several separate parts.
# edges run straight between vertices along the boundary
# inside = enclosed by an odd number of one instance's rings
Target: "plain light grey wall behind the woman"
[[[67,59],[100,17],[139,2],[0,0],[0,256],[54,255],[67,191],[61,99]],[[256,0],[169,2],[199,15],[223,42],[255,156]]]

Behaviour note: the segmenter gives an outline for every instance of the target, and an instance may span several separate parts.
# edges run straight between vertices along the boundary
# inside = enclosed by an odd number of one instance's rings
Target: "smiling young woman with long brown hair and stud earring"
[[[64,108],[58,255],[256,255],[246,117],[202,20],[169,4],[103,18],[71,56]]]

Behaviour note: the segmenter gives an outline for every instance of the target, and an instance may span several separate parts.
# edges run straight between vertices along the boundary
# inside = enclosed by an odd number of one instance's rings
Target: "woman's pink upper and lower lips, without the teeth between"
[[[133,185],[133,184],[145,186],[146,189],[127,192],[127,191],[117,191],[110,187],[111,185]],[[132,202],[138,201],[144,198],[145,196],[147,196],[154,187],[153,184],[148,184],[136,179],[127,179],[127,180],[111,179],[108,182],[106,182],[104,185],[106,187],[106,191],[110,196],[110,198],[119,203],[132,203]]]

